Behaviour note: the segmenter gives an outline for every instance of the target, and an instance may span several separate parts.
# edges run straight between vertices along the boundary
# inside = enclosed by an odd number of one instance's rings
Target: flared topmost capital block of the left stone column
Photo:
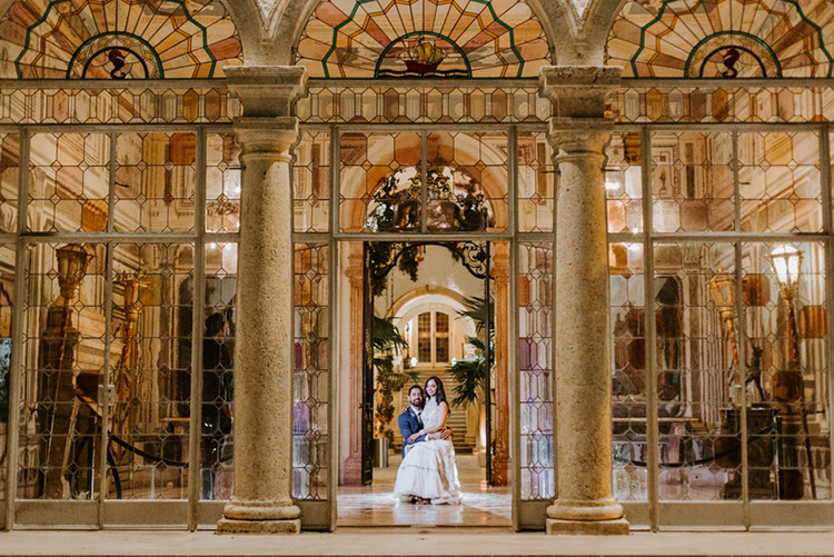
[[[224,71],[245,117],[288,117],[296,99],[307,95],[307,70],[300,66],[240,66]]]

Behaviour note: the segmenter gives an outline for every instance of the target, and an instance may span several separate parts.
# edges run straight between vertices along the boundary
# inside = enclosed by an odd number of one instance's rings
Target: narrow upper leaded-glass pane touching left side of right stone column
[[[553,231],[553,148],[546,133],[518,133],[517,207],[520,232]]]

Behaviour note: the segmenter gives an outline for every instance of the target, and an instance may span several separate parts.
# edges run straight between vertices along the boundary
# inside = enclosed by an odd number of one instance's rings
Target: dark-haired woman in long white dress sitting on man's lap
[[[426,381],[426,396],[421,412],[423,429],[411,435],[409,442],[446,428],[449,405],[438,377],[429,377]],[[463,497],[459,488],[451,439],[430,439],[415,444],[406,454],[397,470],[394,495],[431,499],[433,505],[460,505]]]

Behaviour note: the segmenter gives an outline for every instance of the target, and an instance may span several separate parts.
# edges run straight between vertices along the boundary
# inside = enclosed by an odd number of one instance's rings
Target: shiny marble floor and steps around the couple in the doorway
[[[474,455],[457,455],[463,505],[413,505],[397,501],[391,491],[399,455],[391,455],[387,468],[374,468],[370,486],[340,486],[336,501],[337,527],[476,527],[509,529],[509,487],[489,487],[485,470]]]

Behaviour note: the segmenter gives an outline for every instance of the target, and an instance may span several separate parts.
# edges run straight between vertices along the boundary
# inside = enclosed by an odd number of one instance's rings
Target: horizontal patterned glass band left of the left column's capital
[[[0,123],[230,123],[240,113],[225,89],[0,91]]]

